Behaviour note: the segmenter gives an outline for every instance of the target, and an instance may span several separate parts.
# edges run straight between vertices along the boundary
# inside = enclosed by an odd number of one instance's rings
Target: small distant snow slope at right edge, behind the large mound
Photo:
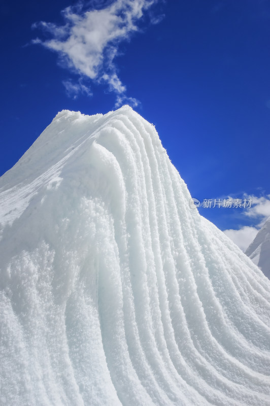
[[[270,279],[270,217],[247,248],[246,254]]]

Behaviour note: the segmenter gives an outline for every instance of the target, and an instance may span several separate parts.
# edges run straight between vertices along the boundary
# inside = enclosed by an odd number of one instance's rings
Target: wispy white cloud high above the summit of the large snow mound
[[[80,82],[63,82],[67,94],[77,97],[79,92],[91,95],[89,86],[83,84],[88,78],[96,83],[105,83],[116,93],[116,105],[138,104],[135,98],[127,97],[126,86],[118,77],[116,56],[119,44],[130,39],[132,33],[140,31],[139,22],[144,14],[159,0],[116,0],[113,3],[99,2],[99,7],[85,8],[85,3],[70,6],[62,11],[63,25],[41,21],[32,25],[42,29],[50,39],[37,38],[40,44],[56,52],[59,63],[79,75]],[[104,7],[100,7],[100,3]],[[158,23],[163,16],[150,16],[150,22]],[[86,91],[85,88],[88,88]]]

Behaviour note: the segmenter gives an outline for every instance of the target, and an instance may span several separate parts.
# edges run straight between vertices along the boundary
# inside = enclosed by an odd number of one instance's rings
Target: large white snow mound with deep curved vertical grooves
[[[270,281],[131,108],[58,113],[0,219],[1,404],[270,404]]]

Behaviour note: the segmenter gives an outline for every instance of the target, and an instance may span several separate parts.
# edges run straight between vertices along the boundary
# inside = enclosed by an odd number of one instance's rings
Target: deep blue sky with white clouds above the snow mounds
[[[15,0],[0,12],[0,175],[58,111],[128,103],[193,197],[252,198],[199,208],[245,248],[270,216],[269,2]]]

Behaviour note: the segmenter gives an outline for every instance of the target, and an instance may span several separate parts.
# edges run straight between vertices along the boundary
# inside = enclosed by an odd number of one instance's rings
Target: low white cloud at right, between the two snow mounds
[[[224,230],[224,233],[245,252],[254,240],[258,230],[270,216],[270,194],[258,197],[254,194],[244,193],[243,198],[252,200],[251,207],[244,210],[242,214],[252,219],[253,225]]]

